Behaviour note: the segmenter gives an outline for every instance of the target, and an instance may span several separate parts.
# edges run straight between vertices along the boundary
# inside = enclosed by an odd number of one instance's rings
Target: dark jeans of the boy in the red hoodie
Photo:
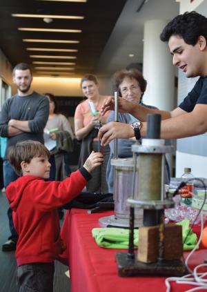
[[[55,263],[35,262],[17,268],[19,292],[52,292]]]

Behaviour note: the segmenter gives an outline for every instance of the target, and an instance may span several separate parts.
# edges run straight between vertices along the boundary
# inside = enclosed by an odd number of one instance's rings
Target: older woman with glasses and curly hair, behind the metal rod
[[[142,97],[146,90],[147,82],[143,75],[137,69],[119,70],[115,72],[113,77],[115,90],[119,91],[119,95],[128,99],[134,104],[141,104],[147,108],[155,108],[142,103]],[[108,116],[108,122],[115,120],[115,112],[112,110]],[[119,113],[118,121],[121,123],[132,124],[137,121],[135,117],[128,113]],[[132,139],[118,139],[118,157],[126,158],[132,157],[131,146],[135,143],[135,138]],[[108,159],[106,179],[108,182],[108,191],[113,193],[113,167],[110,165],[110,159],[114,156],[114,142],[110,142],[110,158]],[[168,166],[167,166],[168,169]],[[169,182],[169,173],[166,177],[166,183]]]

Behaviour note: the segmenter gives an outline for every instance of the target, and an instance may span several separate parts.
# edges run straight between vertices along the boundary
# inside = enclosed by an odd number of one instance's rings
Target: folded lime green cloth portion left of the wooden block
[[[93,228],[92,237],[97,244],[107,249],[128,249],[129,231],[124,228]],[[138,246],[139,232],[134,230],[134,247]]]

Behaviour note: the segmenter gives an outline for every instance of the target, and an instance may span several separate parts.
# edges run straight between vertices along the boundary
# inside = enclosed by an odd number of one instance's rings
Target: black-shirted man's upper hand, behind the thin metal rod
[[[135,104],[128,99],[119,97],[118,99],[118,108],[119,113],[132,113],[132,110],[135,108]],[[103,106],[101,107],[101,115],[104,115],[108,110],[115,110],[115,98],[108,97],[105,99]]]

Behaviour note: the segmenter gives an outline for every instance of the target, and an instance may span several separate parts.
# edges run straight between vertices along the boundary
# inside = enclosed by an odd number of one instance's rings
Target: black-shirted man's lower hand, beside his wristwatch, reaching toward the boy
[[[99,139],[101,139],[101,145],[107,145],[117,138],[131,138],[135,136],[135,131],[130,124],[117,123],[117,121],[111,121],[110,123],[102,126],[99,130]]]

